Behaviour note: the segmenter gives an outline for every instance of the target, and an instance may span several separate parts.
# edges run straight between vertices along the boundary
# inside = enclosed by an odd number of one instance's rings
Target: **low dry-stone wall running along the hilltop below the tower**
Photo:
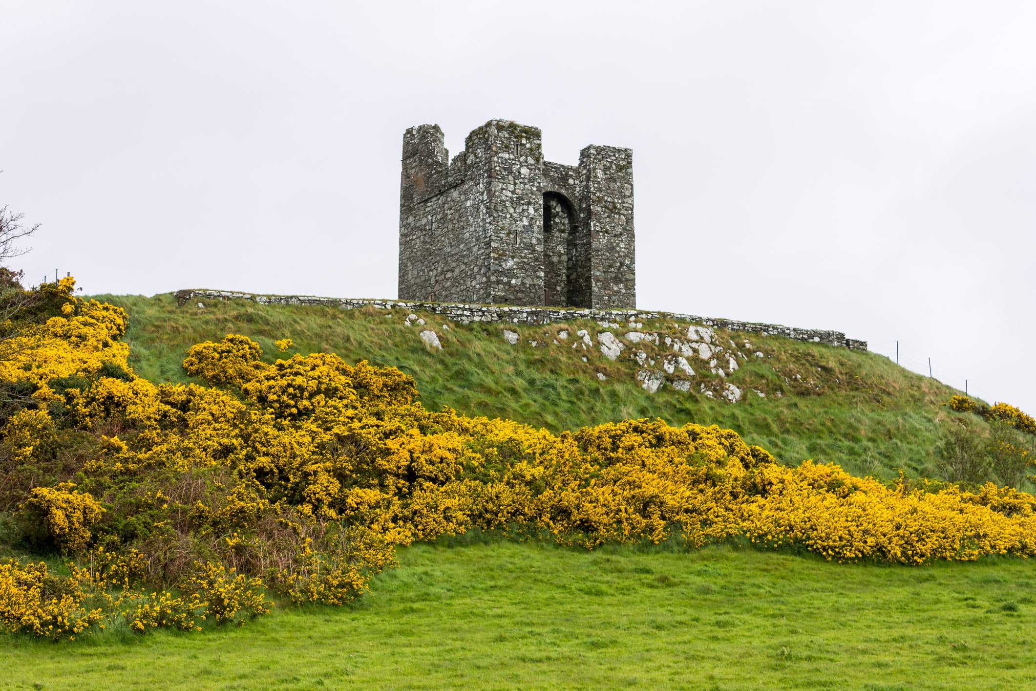
[[[445,303],[411,303],[407,300],[363,299],[350,297],[315,297],[312,295],[258,295],[227,290],[177,290],[173,295],[179,305],[192,300],[230,300],[243,299],[259,305],[312,305],[316,307],[334,307],[341,310],[373,307],[377,310],[408,310],[410,312],[431,312],[454,321],[466,324],[472,321],[510,322],[515,324],[546,324],[555,321],[572,321],[575,319],[594,319],[602,324],[607,323],[615,328],[618,321],[626,323],[642,319],[675,319],[695,324],[703,324],[714,328],[725,328],[731,332],[745,332],[761,336],[782,336],[793,341],[824,343],[831,346],[845,347],[850,350],[866,350],[866,341],[847,339],[841,332],[827,332],[814,328],[794,328],[780,324],[760,324],[752,321],[735,321],[732,319],[712,319],[693,314],[675,312],[645,312],[643,310],[580,310],[575,308],[547,307],[508,307],[502,305],[449,305]]]

